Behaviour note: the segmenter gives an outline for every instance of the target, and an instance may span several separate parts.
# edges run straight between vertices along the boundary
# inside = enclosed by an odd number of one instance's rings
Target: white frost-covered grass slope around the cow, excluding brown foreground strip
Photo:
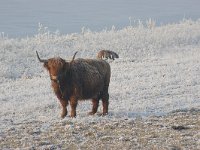
[[[155,26],[138,23],[121,30],[62,35],[40,26],[34,37],[0,36],[0,129],[16,123],[60,119],[59,103],[47,72],[36,58],[60,56],[96,58],[100,49],[117,52],[110,62],[110,106],[106,120],[161,115],[200,106],[200,20]],[[77,118],[82,123],[101,117],[87,116],[90,101],[80,102]],[[102,107],[99,108],[99,111]],[[65,120],[70,119],[69,117]]]

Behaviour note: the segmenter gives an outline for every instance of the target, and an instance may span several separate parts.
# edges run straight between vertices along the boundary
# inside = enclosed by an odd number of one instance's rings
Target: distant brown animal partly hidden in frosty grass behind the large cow
[[[109,58],[109,59],[115,60],[115,58],[119,58],[119,55],[110,50],[101,50],[98,52],[97,58],[99,58],[99,59],[108,59]]]

